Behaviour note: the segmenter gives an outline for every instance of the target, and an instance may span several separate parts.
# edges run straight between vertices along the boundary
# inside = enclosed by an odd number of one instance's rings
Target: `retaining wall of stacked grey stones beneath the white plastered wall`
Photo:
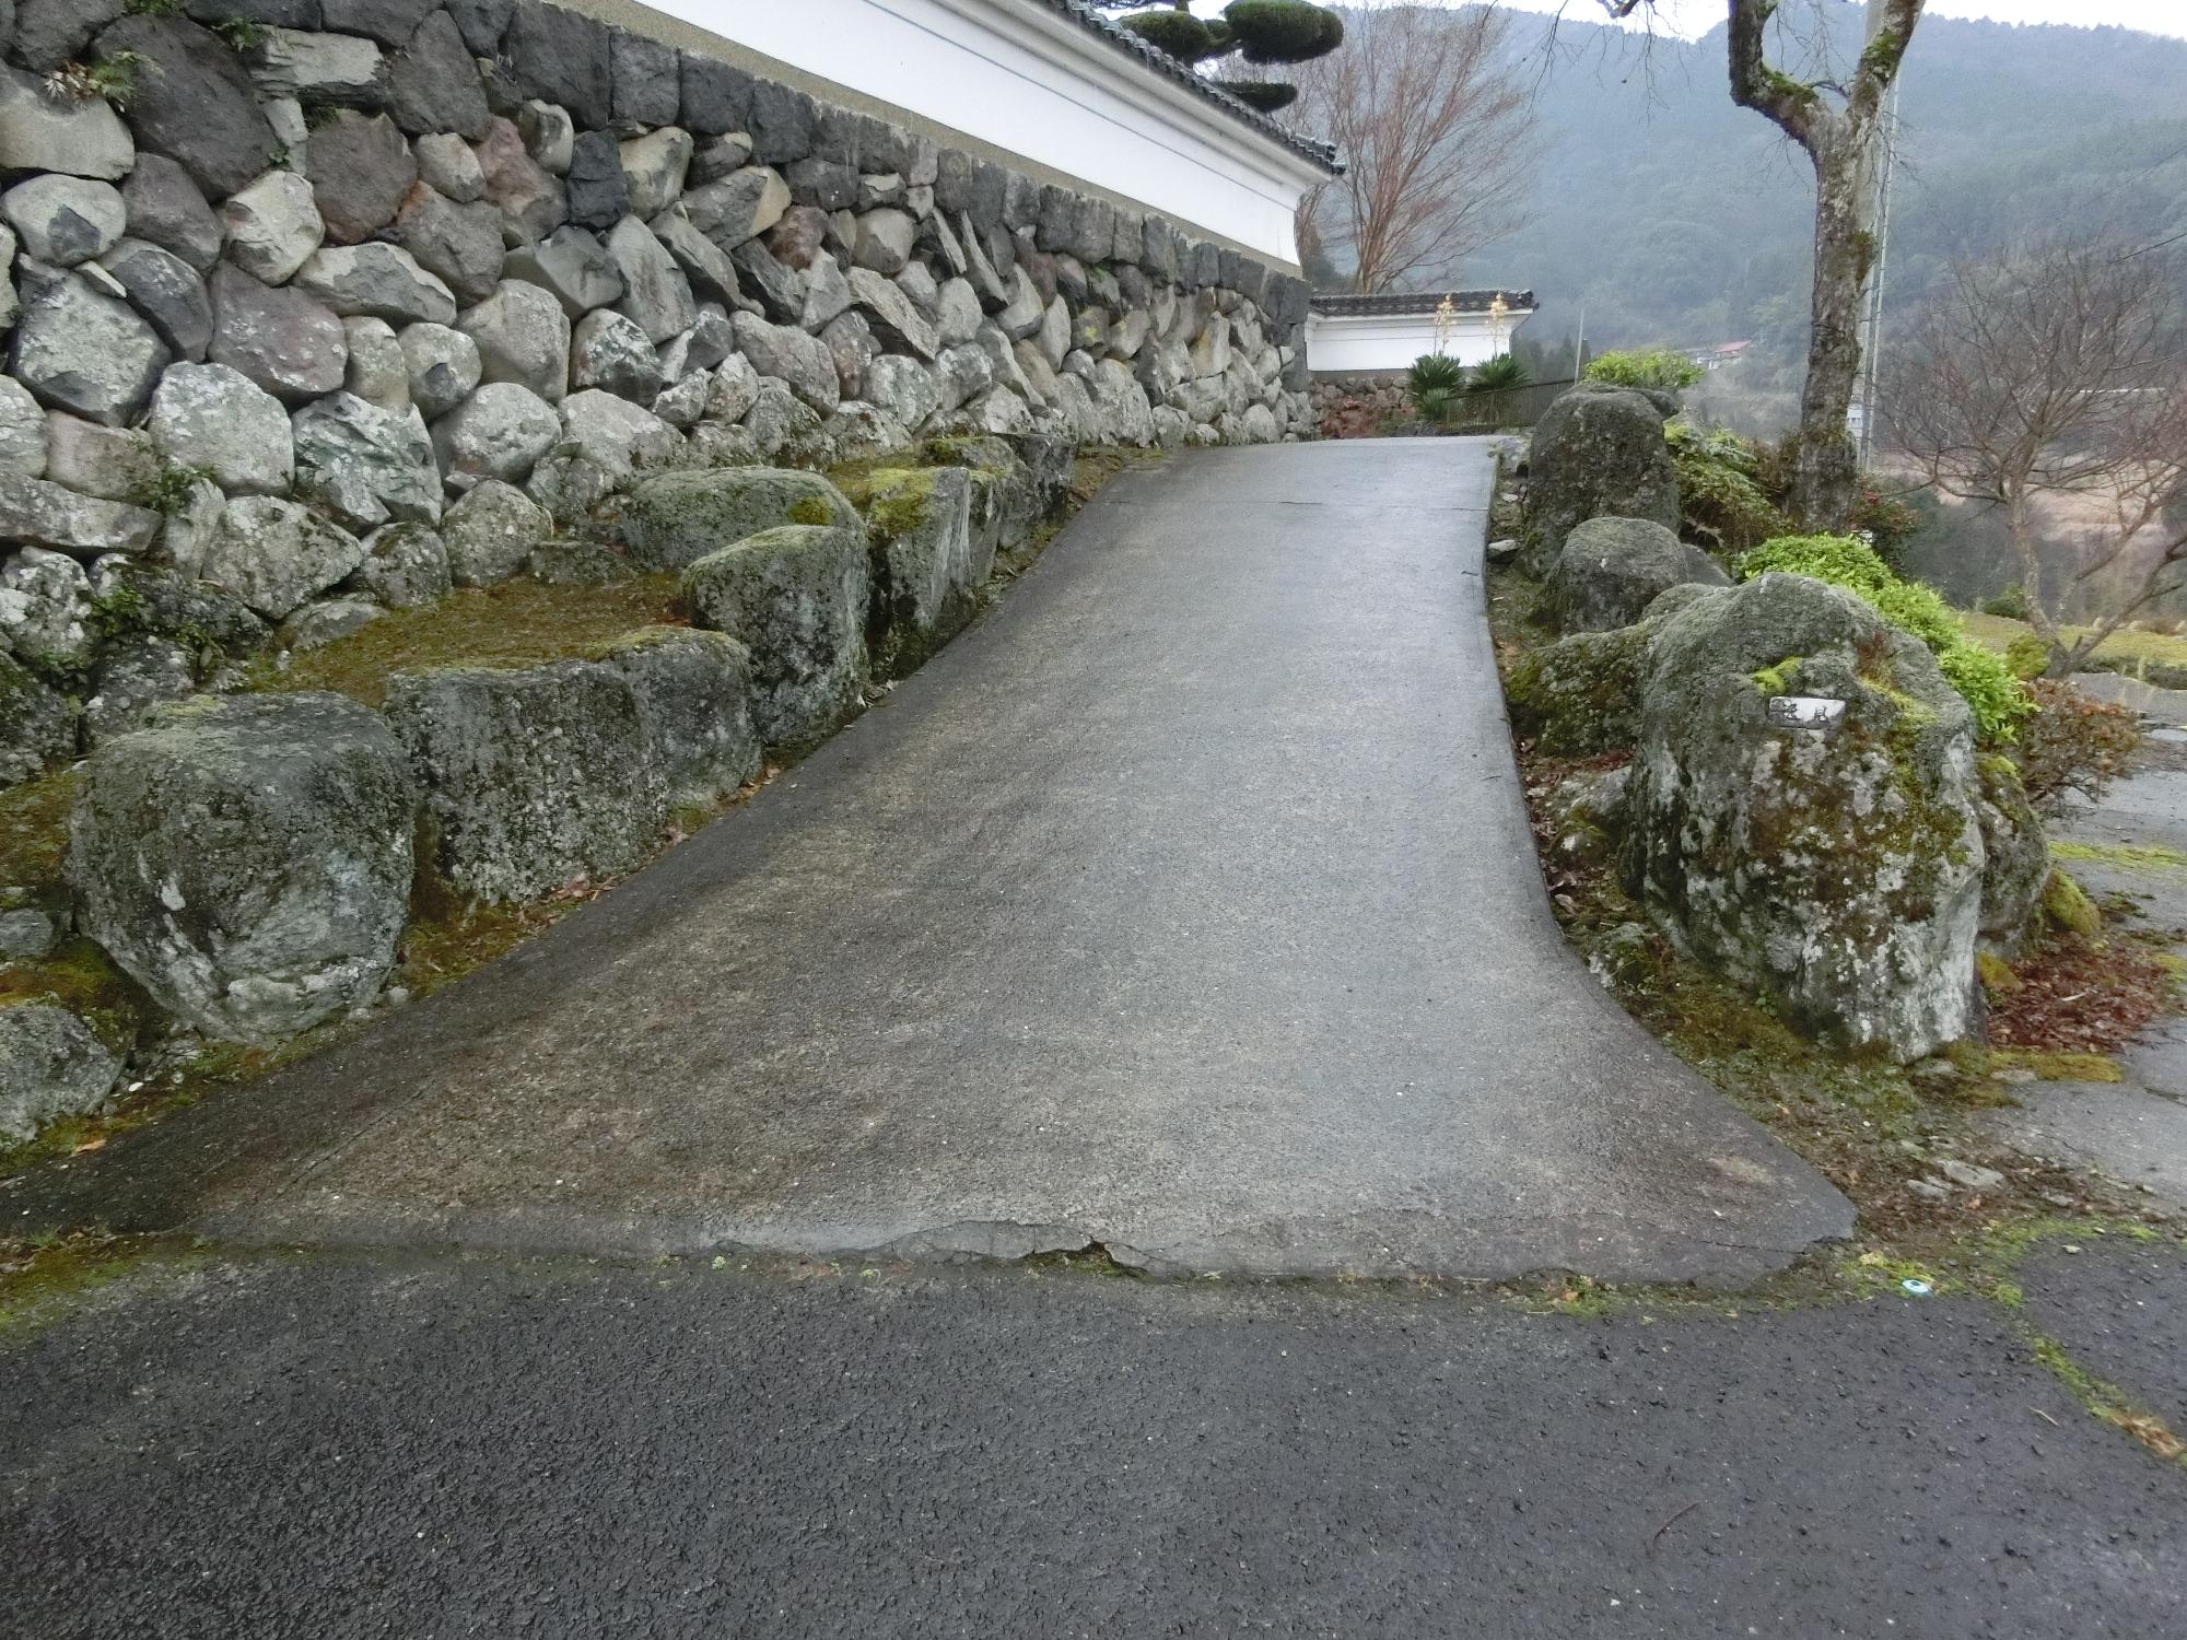
[[[617,547],[652,470],[1312,426],[1303,282],[573,11],[22,0],[0,39],[0,783]],[[112,558],[243,608],[116,632]]]

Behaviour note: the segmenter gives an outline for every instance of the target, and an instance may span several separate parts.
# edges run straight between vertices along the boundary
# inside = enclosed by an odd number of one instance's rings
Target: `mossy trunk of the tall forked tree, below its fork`
[[[1800,389],[1800,457],[1791,512],[1802,529],[1844,534],[1859,501],[1859,470],[1846,415],[1861,374],[1861,313],[1876,262],[1874,122],[1841,120],[1815,142],[1815,291]]]

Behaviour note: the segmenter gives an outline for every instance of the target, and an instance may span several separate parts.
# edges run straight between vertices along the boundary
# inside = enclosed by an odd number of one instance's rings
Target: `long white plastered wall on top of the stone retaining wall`
[[[647,2],[1297,267],[1314,164],[1039,0]]]

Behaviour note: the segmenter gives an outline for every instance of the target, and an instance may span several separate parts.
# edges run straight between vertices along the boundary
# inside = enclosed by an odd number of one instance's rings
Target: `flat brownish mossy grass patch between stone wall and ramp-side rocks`
[[[549,586],[534,579],[464,586],[416,610],[389,610],[319,649],[254,663],[254,689],[330,689],[378,706],[387,678],[422,667],[534,667],[571,660],[630,628],[674,623],[676,575],[639,575],[608,586]]]

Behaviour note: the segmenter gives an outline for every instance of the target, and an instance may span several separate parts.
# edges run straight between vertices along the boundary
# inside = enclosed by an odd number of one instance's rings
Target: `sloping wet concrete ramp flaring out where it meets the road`
[[[1844,1235],[1548,916],[1489,483],[1454,440],[1131,472],[755,803],[63,1196],[243,1240],[1271,1275],[1739,1281]]]

